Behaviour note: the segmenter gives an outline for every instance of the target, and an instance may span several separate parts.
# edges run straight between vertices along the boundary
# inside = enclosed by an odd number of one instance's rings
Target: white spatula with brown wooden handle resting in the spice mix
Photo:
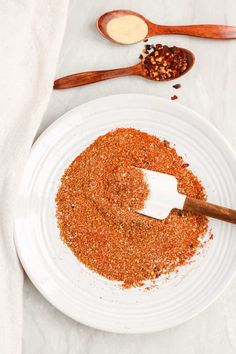
[[[140,214],[163,220],[172,209],[177,208],[236,224],[236,210],[178,193],[178,182],[174,176],[144,169],[142,171],[148,183],[149,196],[144,208],[138,211]]]

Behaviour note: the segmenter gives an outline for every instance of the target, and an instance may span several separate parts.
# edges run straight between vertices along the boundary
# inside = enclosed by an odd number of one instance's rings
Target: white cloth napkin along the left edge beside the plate
[[[0,352],[21,353],[23,271],[17,188],[52,91],[68,0],[0,2]]]

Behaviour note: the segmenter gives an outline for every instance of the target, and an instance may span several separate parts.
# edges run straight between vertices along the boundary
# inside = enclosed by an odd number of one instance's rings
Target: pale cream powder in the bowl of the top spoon
[[[108,35],[116,42],[131,44],[141,41],[148,34],[148,26],[138,16],[125,15],[113,18],[107,24]]]

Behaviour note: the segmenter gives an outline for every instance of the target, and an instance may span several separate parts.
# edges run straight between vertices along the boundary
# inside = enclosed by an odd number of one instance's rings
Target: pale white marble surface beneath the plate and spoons
[[[236,25],[235,0],[71,0],[57,76],[125,66],[137,61],[143,43],[114,45],[97,33],[96,18],[115,8],[139,11],[161,24]],[[132,92],[170,98],[176,93],[179,103],[209,119],[236,149],[236,41],[167,36],[153,38],[153,43],[157,42],[183,46],[196,54],[194,69],[179,80],[182,84],[180,90],[175,91],[170,83],[158,84],[127,77],[57,91],[51,97],[40,132],[64,112],[97,97]],[[51,306],[26,278],[23,353],[236,353],[236,279],[213,305],[181,326],[149,335],[116,335],[88,328],[67,318]]]

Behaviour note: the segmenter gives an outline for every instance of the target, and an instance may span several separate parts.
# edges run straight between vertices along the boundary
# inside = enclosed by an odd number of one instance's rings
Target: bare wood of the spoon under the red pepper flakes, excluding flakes
[[[188,67],[183,73],[179,73],[178,77],[185,75],[192,68],[195,62],[194,54],[190,50],[185,48],[180,48],[180,49],[187,53]],[[53,87],[54,89],[66,89],[66,88],[84,86],[98,81],[109,80],[109,79],[114,79],[116,77],[129,76],[129,75],[143,76],[146,79],[152,80],[149,76],[146,75],[145,68],[142,62],[140,62],[136,65],[129,66],[127,68],[100,70],[100,71],[87,71],[78,74],[72,74],[69,76],[64,76],[60,79],[57,79],[54,82]],[[163,81],[174,80],[177,79],[178,77],[169,78]]]

